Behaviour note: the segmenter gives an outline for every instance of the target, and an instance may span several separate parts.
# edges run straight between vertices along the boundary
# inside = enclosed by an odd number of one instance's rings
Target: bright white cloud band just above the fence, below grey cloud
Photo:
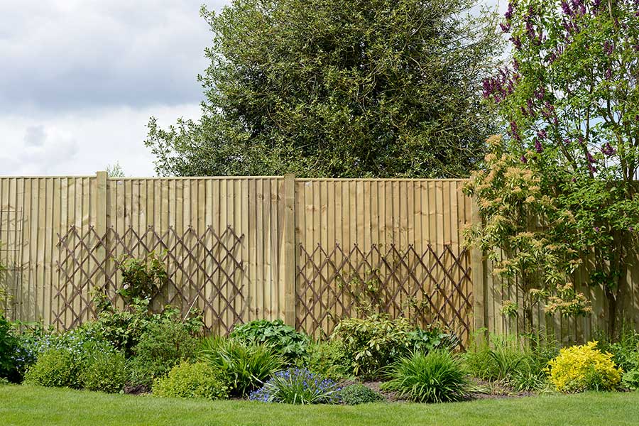
[[[126,175],[153,176],[153,155],[143,143],[152,115],[168,126],[178,116],[197,119],[200,105],[0,116],[0,174],[93,175],[118,162]]]

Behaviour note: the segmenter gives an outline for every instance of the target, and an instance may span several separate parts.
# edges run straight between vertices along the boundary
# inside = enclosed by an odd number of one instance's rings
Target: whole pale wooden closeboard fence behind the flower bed
[[[119,302],[117,259],[161,253],[170,280],[155,303],[198,307],[212,332],[281,318],[321,336],[368,303],[464,342],[476,329],[515,332],[513,300],[461,228],[476,220],[464,180],[0,178],[1,285],[14,319],[60,329],[94,317],[90,292]],[[637,263],[639,265],[639,263]],[[639,268],[629,281],[637,282]],[[583,281],[583,280],[582,280]],[[372,289],[372,290],[371,290]],[[374,291],[373,291],[374,290]],[[564,342],[603,328],[603,297],[579,320],[536,320]],[[631,285],[628,312],[639,291]],[[360,306],[361,307],[361,306]]]

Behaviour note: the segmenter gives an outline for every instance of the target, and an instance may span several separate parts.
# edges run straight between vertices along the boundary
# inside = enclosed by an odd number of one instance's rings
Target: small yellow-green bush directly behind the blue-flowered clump
[[[341,340],[312,344],[306,366],[313,373],[333,380],[351,376],[351,361],[344,353]]]

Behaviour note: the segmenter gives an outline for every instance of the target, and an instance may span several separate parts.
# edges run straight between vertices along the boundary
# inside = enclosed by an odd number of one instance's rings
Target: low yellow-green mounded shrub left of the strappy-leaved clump
[[[183,361],[168,376],[155,379],[153,395],[216,400],[227,398],[229,387],[222,371],[202,362]]]

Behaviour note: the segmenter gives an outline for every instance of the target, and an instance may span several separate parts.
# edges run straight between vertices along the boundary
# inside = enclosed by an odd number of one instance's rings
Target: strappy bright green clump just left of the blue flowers
[[[200,361],[223,371],[232,395],[247,395],[285,364],[283,356],[264,344],[243,344],[212,337],[204,340]]]

